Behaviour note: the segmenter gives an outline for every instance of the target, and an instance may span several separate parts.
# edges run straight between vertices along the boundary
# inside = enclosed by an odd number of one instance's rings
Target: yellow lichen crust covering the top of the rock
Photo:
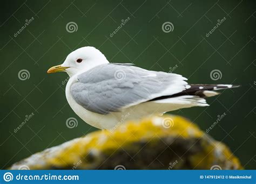
[[[166,122],[169,124],[166,125]],[[68,141],[55,147],[55,151],[51,154],[37,154],[41,159],[44,157],[44,167],[71,167],[74,163],[82,160],[80,168],[93,168],[93,166],[104,162],[105,157],[115,155],[122,148],[134,152],[139,151],[140,146],[134,144],[138,141],[150,142],[149,146],[157,148],[161,138],[193,139],[195,140],[194,144],[200,140],[202,150],[188,155],[187,158],[191,167],[195,169],[210,169],[216,161],[224,164],[230,162],[234,168],[242,168],[239,160],[225,145],[206,136],[196,124],[180,116],[150,117],[142,119],[140,122],[126,122],[113,131],[99,130],[82,138]],[[216,153],[221,154],[221,157],[215,155]],[[182,163],[180,162],[179,165]],[[32,169],[42,168],[36,164],[30,165],[30,167]]]

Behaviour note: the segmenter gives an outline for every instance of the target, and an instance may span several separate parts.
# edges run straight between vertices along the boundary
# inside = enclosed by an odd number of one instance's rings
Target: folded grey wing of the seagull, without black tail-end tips
[[[74,100],[98,114],[118,112],[160,96],[185,89],[186,78],[135,66],[99,65],[77,77],[71,86]]]

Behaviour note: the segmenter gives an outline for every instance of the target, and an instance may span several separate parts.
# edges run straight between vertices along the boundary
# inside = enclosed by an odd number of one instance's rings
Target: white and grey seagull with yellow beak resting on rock
[[[48,73],[66,72],[65,95],[72,110],[87,124],[113,129],[125,121],[190,107],[208,106],[205,98],[232,84],[188,84],[174,73],[156,72],[131,63],[110,63],[91,46],[71,52]]]

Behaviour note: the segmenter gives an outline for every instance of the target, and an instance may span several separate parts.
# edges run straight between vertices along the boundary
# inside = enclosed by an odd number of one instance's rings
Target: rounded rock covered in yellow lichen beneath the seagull
[[[227,146],[180,116],[126,122],[70,140],[10,169],[242,169]]]

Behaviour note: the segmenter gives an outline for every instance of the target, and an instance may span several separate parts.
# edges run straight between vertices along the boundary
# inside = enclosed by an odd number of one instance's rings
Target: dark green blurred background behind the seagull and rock
[[[246,169],[255,169],[255,1],[1,1],[0,168],[85,135],[92,128],[65,98],[65,73],[46,74],[71,51],[95,46],[111,62],[133,62],[151,70],[182,74],[190,83],[233,83],[241,88],[208,98],[206,108],[172,112],[223,141]],[[32,22],[17,36],[26,20]],[[113,37],[110,34],[127,17]],[[218,23],[226,17],[209,37]],[[66,25],[77,24],[70,33]],[[173,31],[162,25],[171,22]],[[29,79],[20,80],[26,69]],[[212,80],[218,69],[221,78]],[[18,131],[25,117],[32,115]],[[66,119],[78,119],[69,129]]]

